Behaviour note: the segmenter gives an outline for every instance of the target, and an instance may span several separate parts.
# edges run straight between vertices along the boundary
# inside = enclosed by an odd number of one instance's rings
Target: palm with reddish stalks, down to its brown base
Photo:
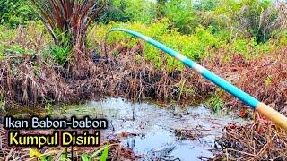
[[[88,75],[91,72],[86,48],[88,29],[104,5],[94,0],[30,1],[55,42],[52,50],[57,62],[71,67],[79,77]]]

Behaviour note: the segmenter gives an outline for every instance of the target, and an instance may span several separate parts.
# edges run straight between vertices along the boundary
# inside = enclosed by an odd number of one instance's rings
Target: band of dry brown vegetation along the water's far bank
[[[114,56],[113,50],[120,51]],[[40,56],[11,56],[0,63],[0,89],[6,104],[44,105],[47,101],[74,102],[94,97],[129,97],[135,100],[178,100],[185,102],[196,97],[212,94],[217,88],[196,72],[166,72],[152,64],[135,59],[141,46],[127,49],[109,47],[109,64],[105,56],[94,60],[94,64],[83,64],[94,71],[82,79],[74,79],[66,69],[51,66]],[[287,100],[286,48],[260,59],[247,61],[234,55],[229,63],[223,63],[221,54],[202,64],[224,79],[230,80],[251,95],[283,111]],[[139,63],[140,62],[140,63]],[[190,90],[188,90],[190,89]],[[228,106],[242,104],[230,95],[222,96]]]

